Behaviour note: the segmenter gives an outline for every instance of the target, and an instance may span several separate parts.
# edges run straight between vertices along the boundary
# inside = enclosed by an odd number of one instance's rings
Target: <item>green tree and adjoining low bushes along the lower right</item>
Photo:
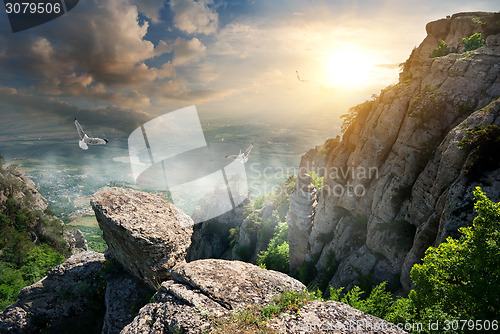
[[[330,288],[330,300],[394,324],[421,324],[411,328],[413,333],[441,333],[446,324],[447,333],[474,332],[479,322],[494,326],[500,318],[500,203],[489,200],[479,187],[474,196],[473,225],[461,228],[459,239],[449,237],[426,251],[422,263],[411,270],[416,287],[407,298],[395,299],[382,282],[366,298],[358,286],[348,292]],[[436,322],[441,331],[431,326]]]

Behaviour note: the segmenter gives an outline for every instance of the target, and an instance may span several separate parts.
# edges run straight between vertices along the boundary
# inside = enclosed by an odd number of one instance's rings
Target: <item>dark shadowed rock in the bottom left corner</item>
[[[105,282],[99,276],[103,262],[102,254],[81,252],[21,290],[19,300],[0,313],[0,333],[63,333],[82,324],[89,326],[88,333],[98,333],[104,310]]]

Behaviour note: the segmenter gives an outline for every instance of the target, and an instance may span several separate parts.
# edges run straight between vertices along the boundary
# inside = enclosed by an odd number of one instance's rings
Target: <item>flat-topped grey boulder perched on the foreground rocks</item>
[[[151,286],[185,261],[193,220],[153,194],[102,188],[90,201],[111,255]]]

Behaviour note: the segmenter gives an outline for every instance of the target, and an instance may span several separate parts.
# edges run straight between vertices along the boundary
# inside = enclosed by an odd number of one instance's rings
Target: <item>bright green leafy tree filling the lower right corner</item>
[[[409,297],[420,318],[500,318],[500,203],[479,187],[474,197],[473,225],[461,228],[459,239],[430,247],[411,270],[416,289]]]

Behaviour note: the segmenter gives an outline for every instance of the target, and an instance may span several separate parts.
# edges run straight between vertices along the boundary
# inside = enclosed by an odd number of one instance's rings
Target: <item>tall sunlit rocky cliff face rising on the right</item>
[[[425,250],[472,222],[472,189],[499,199],[498,159],[485,163],[489,153],[458,148],[477,127],[500,124],[499,19],[462,13],[429,23],[399,83],[354,109],[325,164],[302,159],[302,169],[320,171],[325,185],[317,203],[290,206],[292,230],[301,226],[294,216],[317,205],[310,232],[289,235],[291,270],[315,261],[319,272],[336,268],[317,282],[338,287],[370,278],[394,288],[400,282],[407,291],[409,271]],[[484,47],[429,58],[439,41],[461,51],[461,39],[476,32],[486,37]]]

